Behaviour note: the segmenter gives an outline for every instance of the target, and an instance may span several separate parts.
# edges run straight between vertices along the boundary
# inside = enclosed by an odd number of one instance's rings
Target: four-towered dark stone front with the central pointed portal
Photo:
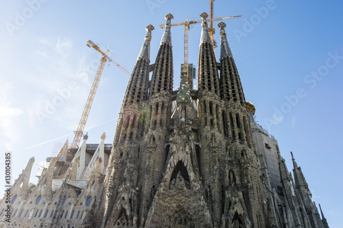
[[[153,27],[130,78],[99,203],[102,227],[272,227],[244,92],[220,23],[220,63],[203,12],[198,91],[173,88],[171,19]],[[149,73],[152,79],[149,81]],[[192,97],[191,97],[192,96]],[[195,105],[193,100],[197,100]],[[173,109],[172,102],[176,101]]]

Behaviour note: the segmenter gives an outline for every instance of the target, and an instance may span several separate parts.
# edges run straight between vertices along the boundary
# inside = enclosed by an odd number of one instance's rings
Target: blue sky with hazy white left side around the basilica
[[[101,58],[86,47],[87,40],[110,49],[110,57],[132,71],[147,25],[155,27],[154,62],[165,14],[174,14],[176,23],[209,13],[207,0],[1,3],[0,146],[1,153],[12,151],[13,179],[29,157],[38,163],[51,155],[56,141],[73,139]],[[214,10],[215,17],[243,14],[225,23],[245,97],[255,104],[259,124],[279,141],[289,170],[289,151],[294,152],[330,227],[340,227],[343,214],[342,9],[341,1],[330,0],[216,0]],[[189,30],[189,62],[196,65],[200,27]],[[171,32],[176,87],[183,27]],[[215,39],[220,40],[219,29]],[[103,132],[112,143],[128,79],[113,64],[104,68],[86,124],[88,143],[98,143]],[[3,166],[3,157],[0,162]]]

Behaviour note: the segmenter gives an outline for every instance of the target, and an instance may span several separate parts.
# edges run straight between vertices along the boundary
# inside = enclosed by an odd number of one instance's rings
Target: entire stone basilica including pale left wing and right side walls
[[[172,90],[173,16],[167,14],[154,64],[154,27],[146,28],[113,144],[104,144],[105,134],[99,144],[86,144],[85,136],[77,151],[65,142],[36,186],[29,184],[29,160],[11,190],[11,223],[3,226],[329,227],[294,158],[292,176],[277,141],[255,123],[226,25],[218,25],[217,62],[208,15],[200,16],[198,90],[185,75]],[[4,222],[5,199],[0,205]]]

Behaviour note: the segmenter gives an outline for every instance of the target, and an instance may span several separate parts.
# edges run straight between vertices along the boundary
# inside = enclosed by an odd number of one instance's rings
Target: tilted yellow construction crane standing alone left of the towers
[[[115,62],[115,60],[112,60],[111,58],[108,57],[108,50],[106,52],[102,51],[99,48],[99,45],[95,44],[91,40],[88,40],[86,45],[88,47],[93,47],[93,49],[97,50],[100,54],[103,55],[103,57],[100,60],[99,67],[97,68],[97,73],[93,81],[91,92],[89,92],[88,94],[88,99],[87,99],[86,105],[84,106],[84,112],[82,112],[78,129],[75,131],[73,143],[71,144],[71,147],[69,147],[69,153],[67,155],[67,162],[71,162],[71,160],[73,160],[73,157],[76,153],[78,145],[80,144],[80,140],[83,136],[84,126],[86,125],[88,114],[89,114],[89,111],[91,110],[95,92],[97,92],[97,86],[99,85],[100,78],[102,77],[102,71],[104,71],[104,66],[105,66],[106,61],[108,60],[109,62],[112,62],[113,64],[121,68],[121,70],[123,70],[125,73],[127,73],[128,75],[131,75],[131,73],[128,70],[126,70],[126,68],[123,68],[123,66],[120,66],[117,62]]]

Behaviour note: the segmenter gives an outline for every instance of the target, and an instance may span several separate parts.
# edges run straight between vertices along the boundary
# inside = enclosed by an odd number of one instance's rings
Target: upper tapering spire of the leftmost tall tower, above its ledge
[[[147,25],[145,28],[147,34],[144,38],[144,43],[139,52],[136,65],[132,71],[132,75],[126,89],[123,107],[128,104],[139,103],[141,100],[147,99],[147,83],[149,81],[149,64],[150,64],[150,41],[154,26]]]

